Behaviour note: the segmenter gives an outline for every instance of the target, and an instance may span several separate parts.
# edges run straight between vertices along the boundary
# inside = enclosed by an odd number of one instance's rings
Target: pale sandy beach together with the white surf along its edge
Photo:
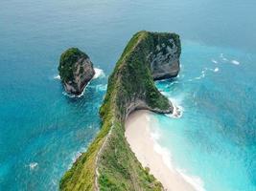
[[[151,127],[151,124],[156,125],[156,127]],[[137,128],[138,126],[140,128]],[[151,169],[151,174],[162,182],[165,190],[204,191],[203,187],[198,186],[198,178],[195,182],[190,183],[188,180],[194,180],[194,177],[186,174],[186,178],[191,178],[186,180],[177,171],[172,163],[170,150],[158,143],[161,132],[157,129],[157,120],[150,112],[137,111],[132,113],[126,121],[125,134],[137,159],[144,167]]]

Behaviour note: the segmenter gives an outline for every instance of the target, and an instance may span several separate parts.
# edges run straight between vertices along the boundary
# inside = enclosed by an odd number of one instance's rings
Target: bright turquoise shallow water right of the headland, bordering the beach
[[[181,107],[152,130],[175,168],[209,191],[256,190],[255,55],[185,43],[182,71],[158,88]]]

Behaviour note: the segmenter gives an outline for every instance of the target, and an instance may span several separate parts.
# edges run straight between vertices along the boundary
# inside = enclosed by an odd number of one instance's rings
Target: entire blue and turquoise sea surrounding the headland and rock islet
[[[99,131],[107,75],[140,30],[177,32],[183,45],[181,74],[157,86],[184,112],[157,116],[159,143],[206,190],[256,190],[255,10],[254,0],[2,0],[0,190],[58,189]],[[105,72],[80,98],[55,78],[69,47]]]

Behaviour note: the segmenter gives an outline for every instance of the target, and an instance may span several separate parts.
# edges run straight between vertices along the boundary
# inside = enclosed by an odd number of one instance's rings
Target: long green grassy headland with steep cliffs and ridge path
[[[108,78],[100,109],[102,129],[62,178],[60,189],[163,190],[131,152],[125,120],[137,109],[173,112],[172,103],[156,89],[153,79],[178,73],[180,50],[175,33],[138,32],[131,38]]]

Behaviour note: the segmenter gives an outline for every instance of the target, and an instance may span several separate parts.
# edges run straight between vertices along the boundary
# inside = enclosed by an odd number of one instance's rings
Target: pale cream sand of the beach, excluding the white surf
[[[175,170],[170,169],[163,157],[153,148],[149,111],[136,111],[126,121],[126,138],[135,156],[144,167],[151,169],[151,174],[160,180],[168,191],[192,191],[195,188]]]

